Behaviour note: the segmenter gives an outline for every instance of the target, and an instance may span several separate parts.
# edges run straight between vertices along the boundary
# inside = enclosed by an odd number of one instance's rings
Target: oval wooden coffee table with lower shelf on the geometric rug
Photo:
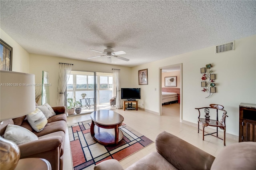
[[[122,115],[111,110],[100,110],[92,112],[91,119],[90,132],[98,143],[103,145],[118,144],[122,140],[123,133],[118,128],[124,121]]]

